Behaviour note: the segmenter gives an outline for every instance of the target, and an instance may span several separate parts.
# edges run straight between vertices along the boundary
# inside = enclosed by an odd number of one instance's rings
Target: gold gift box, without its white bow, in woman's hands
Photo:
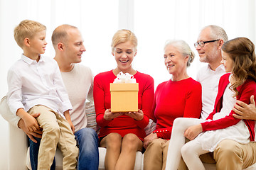
[[[111,112],[138,111],[139,84],[110,84]]]

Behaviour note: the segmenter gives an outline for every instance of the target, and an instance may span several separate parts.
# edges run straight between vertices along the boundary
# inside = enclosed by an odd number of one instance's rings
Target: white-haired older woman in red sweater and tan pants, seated
[[[164,64],[169,81],[156,88],[151,119],[156,130],[144,138],[144,169],[165,169],[169,139],[174,119],[199,118],[201,115],[201,84],[188,76],[186,68],[193,62],[194,53],[183,40],[166,42]]]

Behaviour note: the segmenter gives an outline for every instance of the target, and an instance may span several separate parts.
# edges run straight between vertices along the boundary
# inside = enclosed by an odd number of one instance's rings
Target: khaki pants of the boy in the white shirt
[[[63,153],[63,169],[76,169],[78,147],[68,121],[46,106],[33,106],[28,113],[41,113],[36,118],[43,128],[38,152],[38,170],[50,169],[57,145]]]

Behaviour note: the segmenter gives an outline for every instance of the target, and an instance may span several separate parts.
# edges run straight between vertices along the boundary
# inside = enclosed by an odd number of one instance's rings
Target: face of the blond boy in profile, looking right
[[[30,40],[31,53],[34,53],[35,55],[44,54],[46,51],[46,45],[46,30],[41,30]]]

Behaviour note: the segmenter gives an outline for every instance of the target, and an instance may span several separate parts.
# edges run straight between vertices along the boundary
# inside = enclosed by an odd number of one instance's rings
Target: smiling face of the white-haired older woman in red
[[[186,72],[188,57],[181,55],[178,48],[173,45],[167,45],[164,50],[164,64],[169,74],[178,75]]]

